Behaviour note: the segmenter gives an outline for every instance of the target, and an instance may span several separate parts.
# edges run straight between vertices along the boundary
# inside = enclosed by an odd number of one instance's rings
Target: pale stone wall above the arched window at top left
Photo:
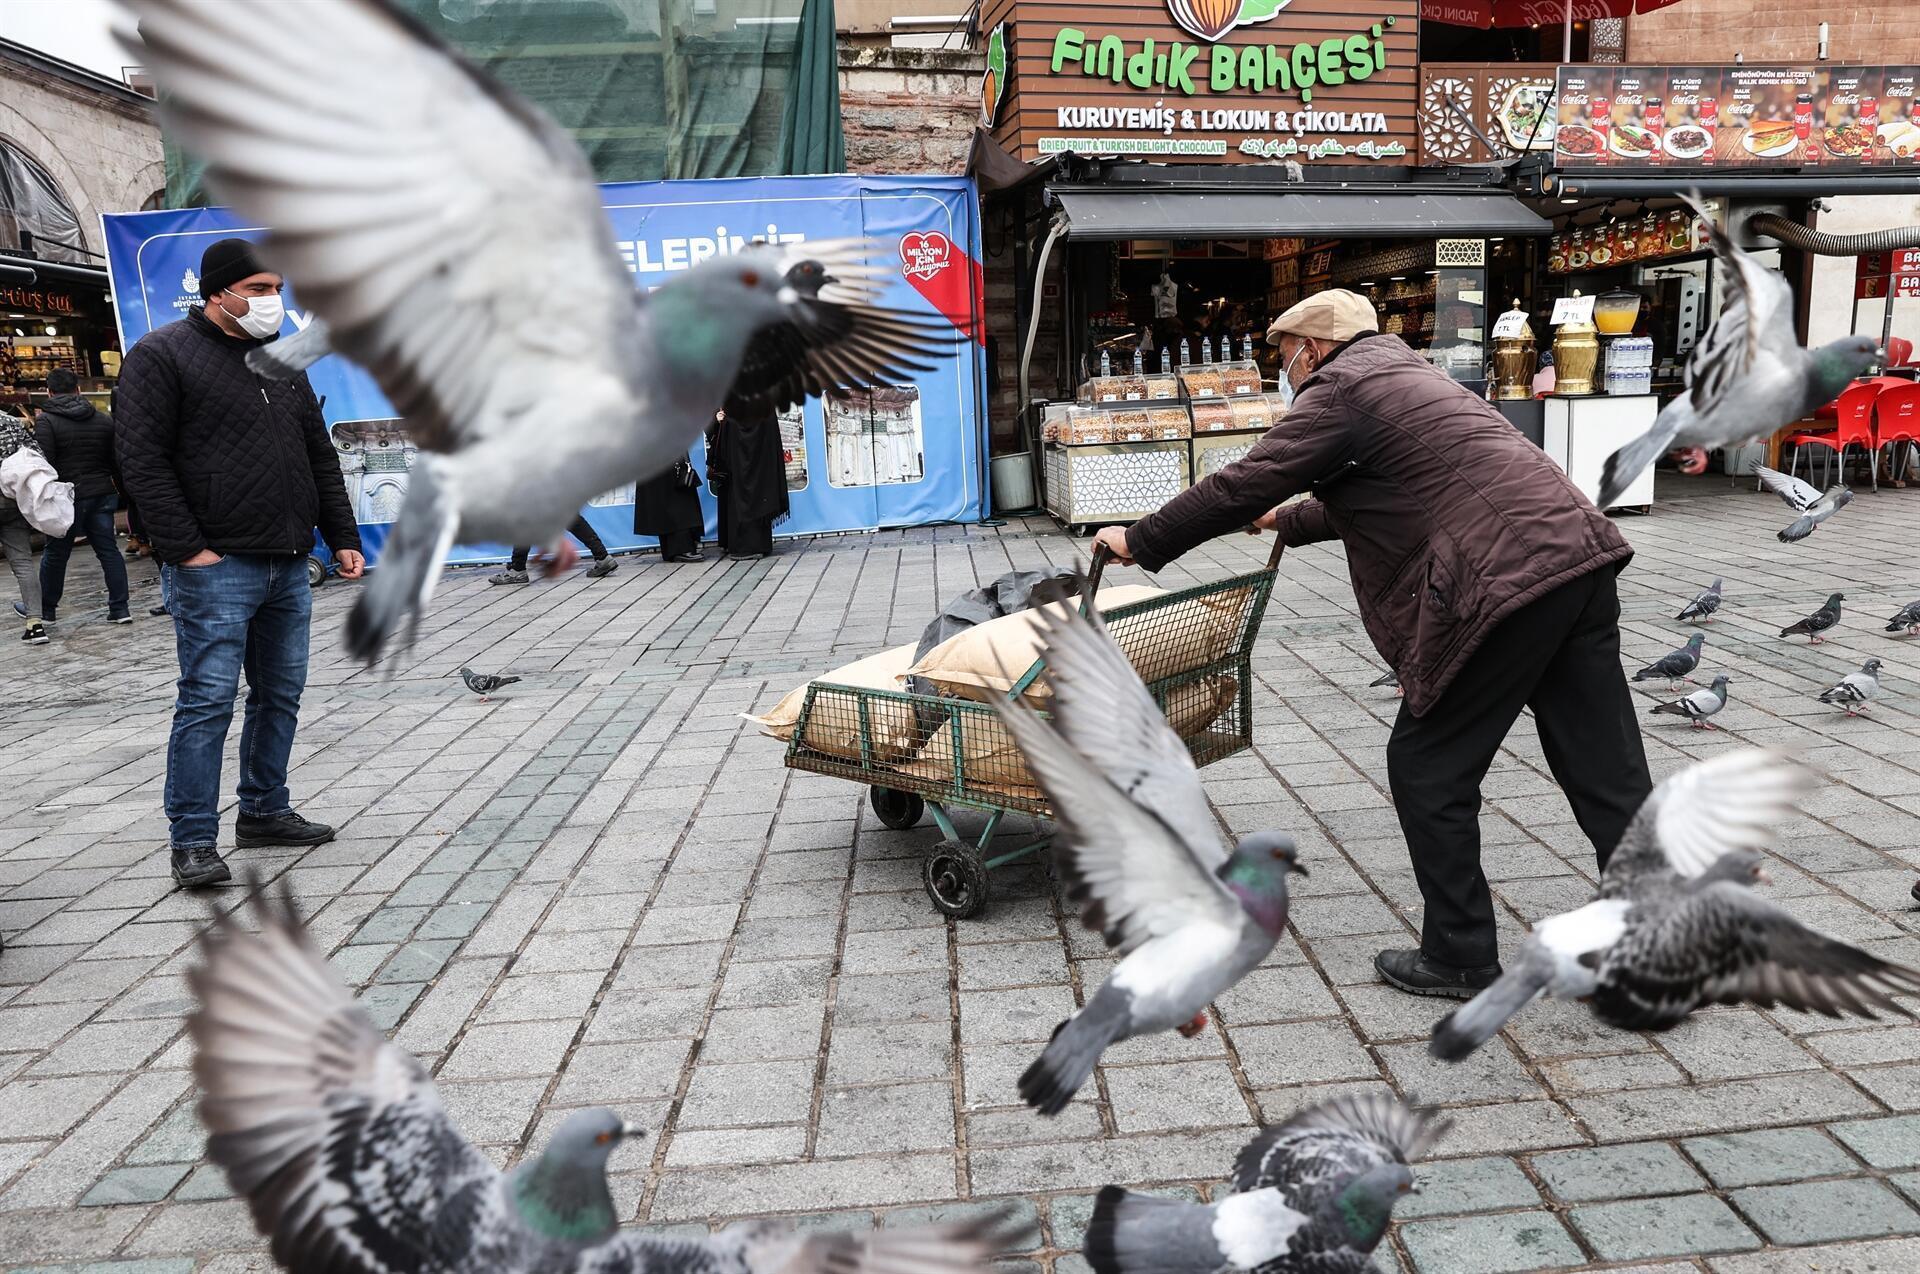
[[[127,213],[167,184],[159,125],[146,98],[100,88],[0,50],[0,136],[38,161],[81,219],[86,248],[102,251],[100,213]]]

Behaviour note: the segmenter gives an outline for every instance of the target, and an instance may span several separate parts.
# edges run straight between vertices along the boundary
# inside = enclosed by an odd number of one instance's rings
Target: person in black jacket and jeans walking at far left
[[[67,591],[67,556],[73,541],[86,535],[86,547],[100,558],[100,574],[108,581],[108,620],[132,624],[127,606],[127,558],[113,543],[113,416],[81,397],[81,382],[73,372],[56,368],[46,376],[46,407],[35,418],[33,436],[40,455],[73,484],[73,528],[46,541],[40,558],[40,618],[54,622],[60,599]]]

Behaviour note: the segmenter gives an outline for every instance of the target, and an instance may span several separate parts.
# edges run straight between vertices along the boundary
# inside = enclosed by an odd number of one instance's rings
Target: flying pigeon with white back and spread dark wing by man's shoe
[[[1599,894],[1540,921],[1492,986],[1448,1015],[1434,1057],[1461,1061],[1534,996],[1584,1000],[1622,1030],[1667,1030],[1709,1003],[1805,1013],[1912,1013],[1920,971],[1818,934],[1753,892],[1761,844],[1811,789],[1761,748],[1690,766],[1653,789],[1620,837]]]

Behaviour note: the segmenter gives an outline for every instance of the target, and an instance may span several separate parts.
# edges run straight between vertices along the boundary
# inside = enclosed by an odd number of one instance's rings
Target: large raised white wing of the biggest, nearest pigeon
[[[637,292],[591,169],[538,107],[378,0],[131,0],[159,113],[265,259],[451,451],[528,386],[618,372]],[[540,278],[530,286],[528,253]]]

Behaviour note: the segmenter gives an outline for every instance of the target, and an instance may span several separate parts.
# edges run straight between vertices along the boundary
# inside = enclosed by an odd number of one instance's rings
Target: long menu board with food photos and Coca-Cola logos
[[[1920,165],[1920,67],[1561,67],[1553,163]]]

